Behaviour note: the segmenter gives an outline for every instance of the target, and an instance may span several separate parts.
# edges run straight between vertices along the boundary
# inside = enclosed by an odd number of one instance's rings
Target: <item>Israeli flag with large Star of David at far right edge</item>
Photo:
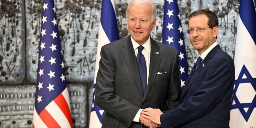
[[[256,128],[256,12],[253,0],[241,0],[238,17],[236,77],[230,128]]]

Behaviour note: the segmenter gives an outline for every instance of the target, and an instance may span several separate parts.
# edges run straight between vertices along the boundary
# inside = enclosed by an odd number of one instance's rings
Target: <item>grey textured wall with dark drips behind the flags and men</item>
[[[115,0],[119,37],[129,33],[125,11],[131,0]],[[256,0],[254,0],[256,1]],[[163,0],[151,36],[161,41]],[[0,127],[32,127],[43,0],[0,1]],[[186,34],[188,15],[209,9],[219,17],[218,44],[232,58],[240,0],[179,0],[189,70],[198,52]],[[74,127],[88,127],[101,0],[55,0]],[[107,20],[107,19],[106,19]],[[165,26],[163,26],[165,27]]]

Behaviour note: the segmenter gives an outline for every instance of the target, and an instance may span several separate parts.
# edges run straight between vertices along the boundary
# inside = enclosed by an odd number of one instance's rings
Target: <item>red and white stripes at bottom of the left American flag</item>
[[[34,108],[33,128],[73,128],[69,104],[66,87],[40,114]]]

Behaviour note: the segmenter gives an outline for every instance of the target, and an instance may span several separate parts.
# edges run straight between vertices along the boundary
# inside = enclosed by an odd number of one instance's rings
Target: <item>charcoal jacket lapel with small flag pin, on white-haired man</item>
[[[155,81],[156,74],[158,72],[158,68],[160,65],[161,58],[162,58],[162,52],[160,51],[159,46],[156,44],[155,40],[150,38],[150,42],[151,42],[150,70],[149,70],[149,76],[148,76],[147,90],[146,90],[146,94],[143,98],[143,101],[146,99],[146,97],[150,93],[150,90]],[[156,53],[158,53],[158,54],[156,54]]]

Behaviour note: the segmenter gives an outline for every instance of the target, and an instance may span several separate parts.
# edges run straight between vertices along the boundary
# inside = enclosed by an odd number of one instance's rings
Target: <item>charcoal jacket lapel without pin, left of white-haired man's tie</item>
[[[141,94],[143,95],[141,80],[140,80],[140,72],[136,60],[136,55],[134,53],[134,49],[131,42],[130,35],[127,37],[127,42],[122,42],[122,47],[120,48],[120,51],[125,59],[125,62],[132,74],[132,77],[138,86]]]

